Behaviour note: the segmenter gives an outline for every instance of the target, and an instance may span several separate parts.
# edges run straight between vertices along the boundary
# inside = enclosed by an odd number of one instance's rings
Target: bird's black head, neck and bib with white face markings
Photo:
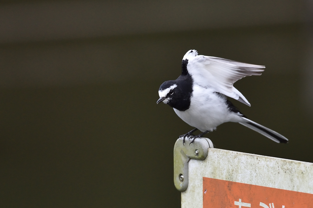
[[[190,106],[192,94],[192,79],[190,75],[179,76],[177,80],[163,82],[159,89],[160,99],[156,102],[176,108],[179,111],[186,111]]]

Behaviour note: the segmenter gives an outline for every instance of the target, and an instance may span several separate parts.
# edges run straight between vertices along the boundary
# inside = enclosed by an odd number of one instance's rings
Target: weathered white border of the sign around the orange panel
[[[313,163],[209,148],[189,161],[183,208],[203,207],[203,177],[313,194]]]

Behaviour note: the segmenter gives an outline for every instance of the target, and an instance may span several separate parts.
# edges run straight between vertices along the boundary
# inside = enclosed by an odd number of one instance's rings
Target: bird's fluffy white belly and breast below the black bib
[[[225,100],[213,92],[213,89],[194,86],[189,109],[178,111],[174,108],[175,113],[187,124],[203,132],[213,131],[228,121],[240,122],[240,116],[230,112]]]

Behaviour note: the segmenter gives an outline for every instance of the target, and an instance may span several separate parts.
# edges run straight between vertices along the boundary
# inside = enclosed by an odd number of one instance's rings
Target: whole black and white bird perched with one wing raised
[[[287,143],[285,136],[248,119],[227,97],[236,99],[248,106],[248,100],[233,84],[246,76],[261,75],[264,66],[236,62],[224,58],[198,55],[189,50],[182,59],[182,75],[176,80],[164,82],[159,89],[160,99],[171,106],[175,113],[187,124],[195,127],[181,135],[192,139],[213,131],[222,123],[237,122],[277,143]],[[195,136],[192,133],[203,133]]]

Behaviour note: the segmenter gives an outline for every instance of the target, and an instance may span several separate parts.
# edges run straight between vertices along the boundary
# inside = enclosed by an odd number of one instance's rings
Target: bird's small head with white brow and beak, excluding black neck
[[[160,99],[156,102],[156,104],[160,102],[164,102],[171,106],[171,103],[177,97],[177,83],[174,80],[163,82],[159,89]]]

